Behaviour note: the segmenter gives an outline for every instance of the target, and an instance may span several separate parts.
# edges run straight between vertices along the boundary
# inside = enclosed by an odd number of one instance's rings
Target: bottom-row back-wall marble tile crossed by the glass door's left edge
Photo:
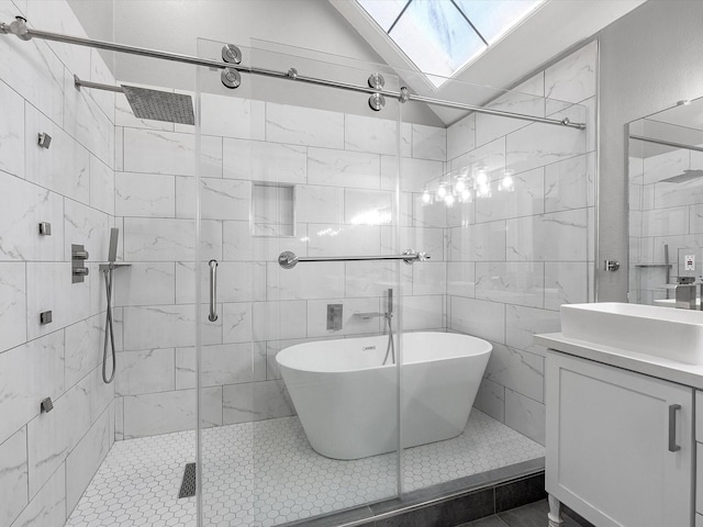
[[[222,388],[200,391],[204,427],[222,425]],[[190,430],[198,425],[196,390],[147,393],[124,397],[124,437],[154,436]]]

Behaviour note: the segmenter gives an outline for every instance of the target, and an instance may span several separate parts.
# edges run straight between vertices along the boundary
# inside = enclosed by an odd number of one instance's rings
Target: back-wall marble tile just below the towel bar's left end
[[[266,265],[266,300],[333,299],[344,295],[344,262],[306,262],[283,269]]]

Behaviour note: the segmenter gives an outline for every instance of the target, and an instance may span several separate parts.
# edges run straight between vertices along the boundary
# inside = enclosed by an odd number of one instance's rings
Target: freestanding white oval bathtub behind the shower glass
[[[276,356],[317,452],[358,459],[398,449],[398,371],[382,366],[387,346],[388,336],[344,338],[291,346]],[[492,349],[468,335],[402,335],[403,447],[464,431]]]

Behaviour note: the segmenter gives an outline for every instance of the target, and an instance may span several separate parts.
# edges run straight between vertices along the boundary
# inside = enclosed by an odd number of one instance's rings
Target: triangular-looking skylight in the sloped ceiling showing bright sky
[[[439,88],[544,0],[357,0]]]

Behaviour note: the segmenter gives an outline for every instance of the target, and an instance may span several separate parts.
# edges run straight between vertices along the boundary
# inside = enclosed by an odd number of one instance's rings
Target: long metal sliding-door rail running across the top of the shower
[[[525,115],[522,113],[504,112],[501,110],[491,110],[489,108],[477,106],[473,104],[465,104],[460,102],[446,101],[442,99],[434,99],[432,97],[419,96],[411,93],[408,88],[401,88],[400,91],[383,90],[378,88],[371,88],[367,86],[352,85],[348,82],[339,82],[336,80],[320,79],[315,77],[305,77],[298,75],[295,69],[291,68],[288,71],[276,71],[271,69],[255,68],[250,66],[242,66],[233,63],[221,63],[219,60],[211,60],[207,58],[198,58],[190,55],[182,55],[179,53],[161,52],[158,49],[149,49],[138,46],[130,46],[126,44],[115,44],[107,41],[97,41],[92,38],[82,38],[79,36],[64,35],[60,33],[51,33],[48,31],[33,30],[26,25],[26,20],[22,16],[16,16],[15,22],[7,24],[0,22],[0,34],[13,34],[20,40],[30,41],[32,38],[42,38],[44,41],[63,42],[65,44],[75,44],[77,46],[94,47],[98,49],[105,49],[109,52],[127,53],[131,55],[140,55],[143,57],[158,58],[161,60],[172,60],[176,63],[185,63],[193,66],[203,66],[207,68],[216,69],[230,69],[238,72],[260,75],[264,77],[272,77],[278,79],[288,79],[299,82],[305,82],[315,86],[325,86],[330,88],[337,88],[347,91],[355,91],[366,94],[381,94],[391,99],[395,99],[400,102],[415,101],[424,102],[426,104],[434,104],[437,106],[450,108],[456,110],[466,110],[477,113],[484,113],[488,115],[496,115],[501,117],[517,119],[521,121],[529,121],[533,123],[550,124],[556,126],[566,126],[568,128],[584,130],[584,123],[572,123],[568,117],[558,120],[549,117],[538,117],[534,115]],[[83,85],[87,86],[87,85]]]

